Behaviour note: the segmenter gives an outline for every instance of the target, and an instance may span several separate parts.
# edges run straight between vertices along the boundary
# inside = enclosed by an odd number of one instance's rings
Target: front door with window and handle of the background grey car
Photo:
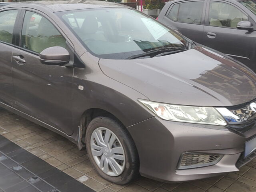
[[[251,18],[234,4],[209,1],[203,44],[228,54],[250,66],[256,48],[256,32],[237,29],[238,22]],[[253,66],[250,66],[253,70]]]

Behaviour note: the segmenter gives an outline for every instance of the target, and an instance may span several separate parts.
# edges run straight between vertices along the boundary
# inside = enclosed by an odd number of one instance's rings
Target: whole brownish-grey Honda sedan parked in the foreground
[[[0,106],[86,148],[110,182],[183,182],[256,156],[256,74],[102,1],[0,8]]]

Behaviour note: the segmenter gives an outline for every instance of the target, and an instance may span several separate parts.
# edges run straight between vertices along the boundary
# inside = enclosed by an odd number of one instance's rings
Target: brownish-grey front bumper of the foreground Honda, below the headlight
[[[140,158],[142,176],[164,181],[183,182],[238,171],[237,162],[244,143],[256,136],[256,127],[237,134],[223,126],[180,123],[150,118],[128,127]],[[178,170],[184,152],[221,154],[211,166]]]

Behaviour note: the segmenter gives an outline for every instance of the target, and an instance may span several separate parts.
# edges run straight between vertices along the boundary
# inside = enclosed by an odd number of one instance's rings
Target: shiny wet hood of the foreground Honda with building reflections
[[[193,106],[234,106],[256,98],[256,74],[208,48],[155,58],[100,59],[102,72],[149,100]]]

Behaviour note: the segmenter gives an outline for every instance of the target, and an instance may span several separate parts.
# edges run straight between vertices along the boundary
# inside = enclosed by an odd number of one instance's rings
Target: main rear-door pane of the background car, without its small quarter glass
[[[202,22],[203,8],[203,1],[181,3],[177,21],[200,24]]]

